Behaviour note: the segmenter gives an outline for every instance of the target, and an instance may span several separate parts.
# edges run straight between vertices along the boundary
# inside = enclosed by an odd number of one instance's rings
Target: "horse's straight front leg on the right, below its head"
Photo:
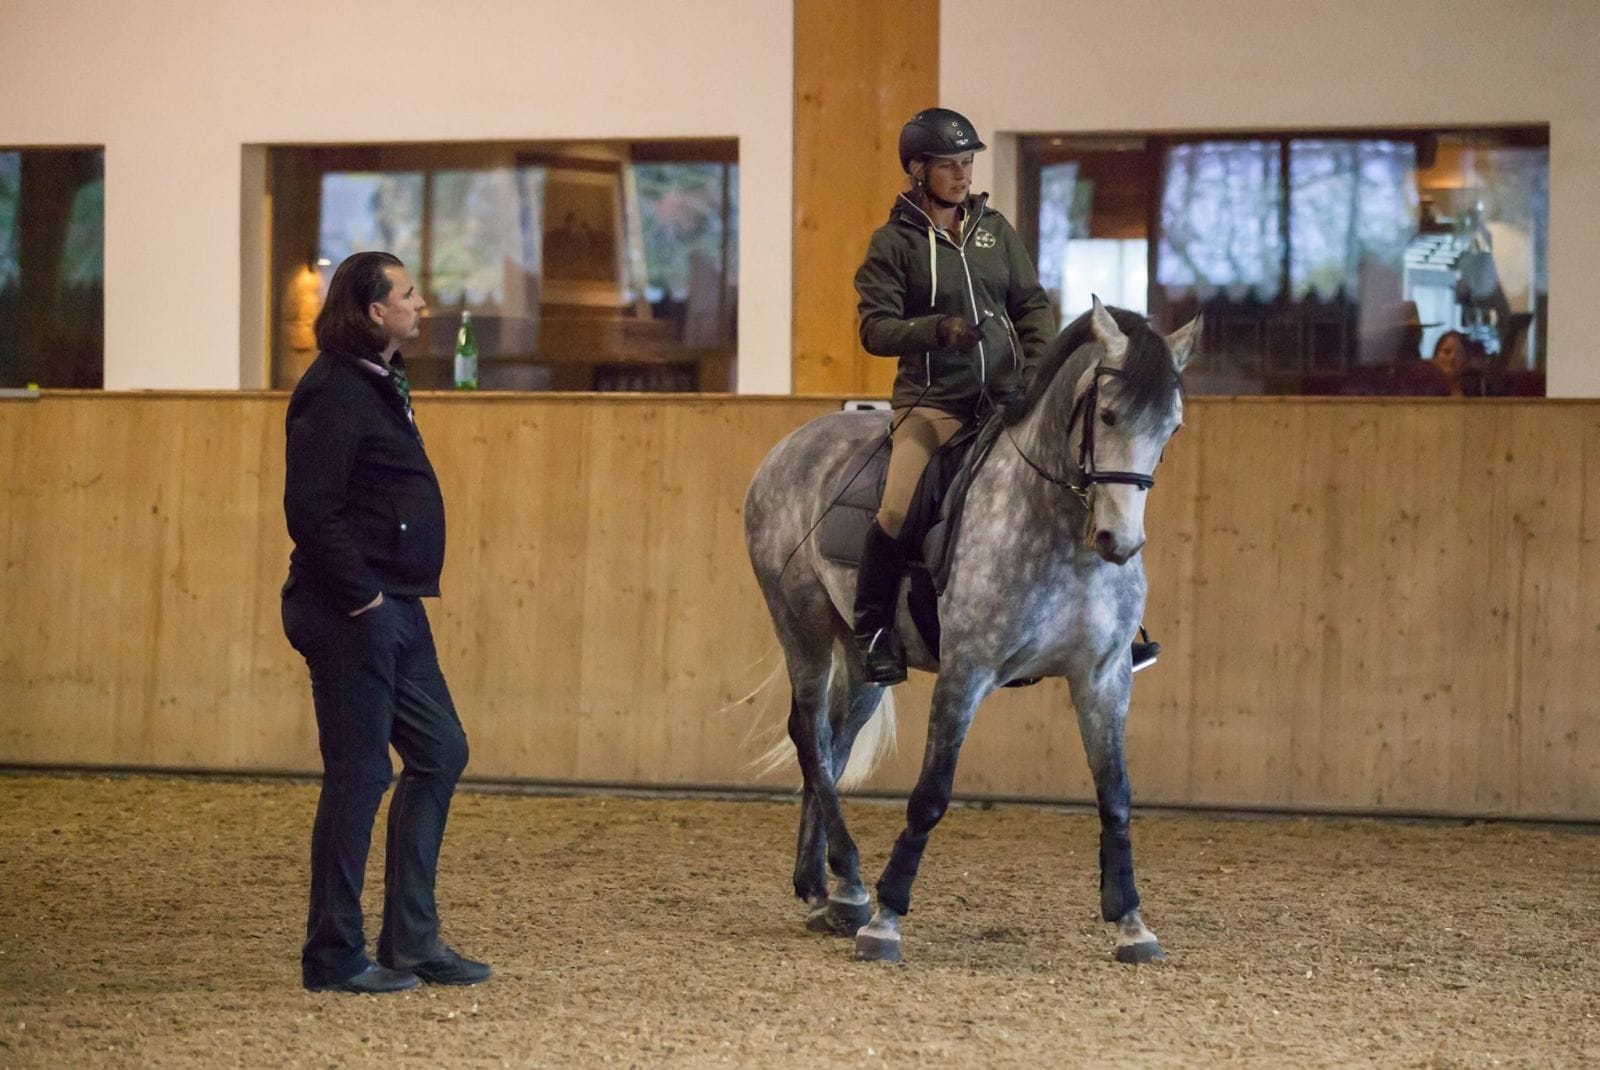
[[[1160,940],[1139,916],[1139,891],[1133,883],[1133,840],[1128,819],[1133,792],[1123,753],[1123,725],[1133,670],[1128,651],[1107,656],[1090,675],[1067,678],[1072,705],[1078,712],[1078,733],[1094,774],[1094,798],[1101,816],[1101,916],[1117,926],[1118,963],[1149,963],[1165,958]]]

